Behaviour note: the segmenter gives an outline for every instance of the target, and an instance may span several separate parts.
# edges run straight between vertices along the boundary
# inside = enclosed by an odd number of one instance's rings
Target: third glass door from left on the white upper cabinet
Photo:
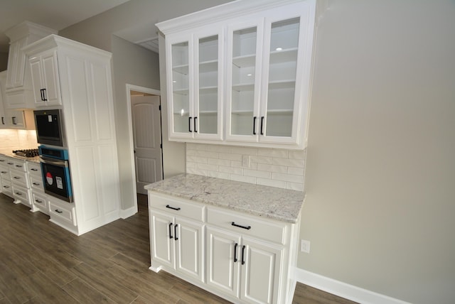
[[[227,138],[257,141],[262,24],[232,27],[228,35]]]

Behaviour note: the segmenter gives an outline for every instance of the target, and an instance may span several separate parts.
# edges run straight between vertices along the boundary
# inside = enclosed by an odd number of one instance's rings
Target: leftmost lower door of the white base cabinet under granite
[[[173,217],[149,210],[151,259],[173,266]]]

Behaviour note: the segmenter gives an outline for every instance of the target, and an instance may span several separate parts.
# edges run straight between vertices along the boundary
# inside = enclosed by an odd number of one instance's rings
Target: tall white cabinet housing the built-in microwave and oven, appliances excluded
[[[50,220],[79,235],[118,219],[111,53],[55,35],[23,50],[35,106],[63,112],[74,202],[49,197]]]

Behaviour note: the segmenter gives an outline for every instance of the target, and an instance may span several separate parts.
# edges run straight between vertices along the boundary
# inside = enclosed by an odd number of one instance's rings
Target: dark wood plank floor
[[[228,303],[149,259],[145,195],[137,215],[76,237],[0,193],[0,304]],[[298,284],[294,303],[353,302]]]

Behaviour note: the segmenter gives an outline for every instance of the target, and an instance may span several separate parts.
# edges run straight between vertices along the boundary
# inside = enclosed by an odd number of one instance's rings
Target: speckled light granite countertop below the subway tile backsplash
[[[300,191],[193,174],[160,180],[145,189],[290,223],[299,218],[305,197]]]

